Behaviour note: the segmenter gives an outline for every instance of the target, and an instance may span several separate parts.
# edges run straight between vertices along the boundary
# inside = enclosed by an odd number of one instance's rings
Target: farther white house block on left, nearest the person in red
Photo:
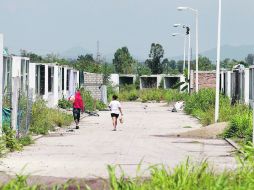
[[[79,87],[79,71],[57,63],[30,63],[29,87],[34,98],[42,97],[49,107],[55,107],[58,100],[75,93]]]

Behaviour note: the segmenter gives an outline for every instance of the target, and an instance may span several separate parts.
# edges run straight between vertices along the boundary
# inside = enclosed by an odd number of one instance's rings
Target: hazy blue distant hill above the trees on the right
[[[232,46],[232,45],[224,45],[221,47],[221,59],[236,59],[236,60],[244,60],[248,54],[254,53],[254,45],[242,45],[242,46]],[[217,57],[217,49],[213,48],[208,51],[200,52],[200,55],[206,56],[211,59],[213,62],[216,61]],[[183,56],[172,57],[171,59],[182,59]],[[192,55],[193,59],[195,59],[195,52]]]

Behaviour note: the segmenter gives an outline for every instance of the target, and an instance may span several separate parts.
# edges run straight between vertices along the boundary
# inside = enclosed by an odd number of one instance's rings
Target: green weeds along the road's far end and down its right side
[[[202,89],[191,95],[177,90],[144,89],[137,90],[133,86],[126,86],[120,90],[119,98],[122,101],[176,101],[185,102],[185,113],[200,120],[202,125],[214,123],[215,90]],[[229,122],[223,134],[226,138],[235,138],[247,143],[252,140],[252,110],[243,104],[231,105],[230,99],[220,95],[219,122]]]

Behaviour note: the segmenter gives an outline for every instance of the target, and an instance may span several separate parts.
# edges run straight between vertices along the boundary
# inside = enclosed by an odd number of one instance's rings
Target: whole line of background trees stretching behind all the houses
[[[111,73],[119,74],[178,74],[183,73],[183,60],[175,61],[164,58],[164,49],[162,45],[152,43],[148,59],[144,62],[135,60],[127,47],[122,47],[116,50],[111,63],[97,62],[92,54],[80,55],[76,60],[67,60],[60,58],[56,54],[48,54],[40,56],[32,52],[21,50],[21,55],[29,57],[31,62],[37,63],[54,63],[72,66],[80,71],[103,73],[106,81]],[[245,61],[237,61],[234,59],[225,59],[221,62],[221,67],[232,69],[237,64],[245,66],[253,65],[254,54],[249,54]],[[186,61],[187,68],[187,61]],[[191,61],[191,69],[195,70],[195,60]],[[199,70],[209,71],[215,70],[215,64],[204,56],[199,56]]]

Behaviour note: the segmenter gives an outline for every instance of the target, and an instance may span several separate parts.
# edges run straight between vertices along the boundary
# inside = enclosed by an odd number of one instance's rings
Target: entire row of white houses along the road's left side
[[[3,55],[3,94],[13,91],[13,79],[18,78],[19,90],[32,97],[43,98],[55,107],[62,97],[70,96],[79,87],[79,71],[57,63],[31,63],[27,57]],[[16,87],[16,86],[15,86]]]

